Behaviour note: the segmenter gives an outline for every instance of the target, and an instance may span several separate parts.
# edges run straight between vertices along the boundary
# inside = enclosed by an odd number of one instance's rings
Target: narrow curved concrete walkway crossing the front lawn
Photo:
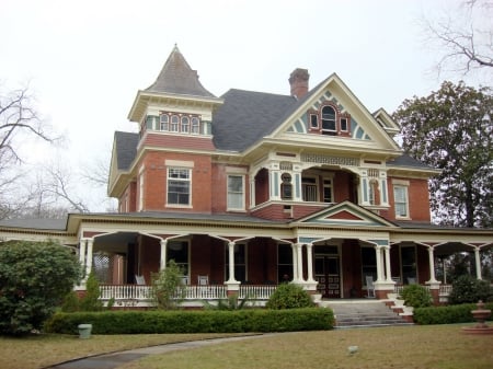
[[[244,339],[254,339],[262,338],[272,335],[277,335],[279,333],[266,333],[251,336],[239,336],[239,337],[223,337],[223,338],[211,338],[211,339],[202,339],[202,341],[191,341],[191,342],[182,342],[175,344],[165,344],[159,346],[144,347],[130,349],[127,351],[113,353],[113,354],[103,354],[99,356],[92,356],[83,359],[76,359],[66,362],[61,362],[59,365],[55,365],[51,367],[47,367],[46,369],[114,369],[119,366],[140,359],[141,357],[148,355],[157,355],[157,354],[165,354],[170,351],[175,351],[180,349],[190,349],[196,347],[204,347],[210,345],[222,344],[225,342],[236,342],[236,341],[244,341]]]

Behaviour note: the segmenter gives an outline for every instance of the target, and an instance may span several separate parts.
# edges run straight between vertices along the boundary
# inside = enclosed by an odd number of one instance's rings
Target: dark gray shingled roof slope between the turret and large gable
[[[214,115],[214,145],[219,150],[242,151],[271,134],[298,105],[288,95],[229,90]]]

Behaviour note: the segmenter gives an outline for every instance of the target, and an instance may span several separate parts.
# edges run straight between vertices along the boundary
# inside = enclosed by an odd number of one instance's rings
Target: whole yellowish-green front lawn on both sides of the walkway
[[[122,369],[493,368],[493,335],[462,334],[461,327],[470,325],[285,333],[148,356],[129,362]],[[100,353],[226,335],[95,335],[90,339],[67,335],[0,337],[0,368],[43,368]],[[358,346],[358,351],[354,355],[349,355],[347,350],[352,345]]]

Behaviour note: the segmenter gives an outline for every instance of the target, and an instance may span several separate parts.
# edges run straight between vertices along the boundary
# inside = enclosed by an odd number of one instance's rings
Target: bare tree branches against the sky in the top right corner
[[[448,5],[448,3],[447,3]],[[437,47],[440,58],[438,74],[444,72],[469,74],[493,68],[493,1],[467,0],[446,15],[423,22],[426,43]]]

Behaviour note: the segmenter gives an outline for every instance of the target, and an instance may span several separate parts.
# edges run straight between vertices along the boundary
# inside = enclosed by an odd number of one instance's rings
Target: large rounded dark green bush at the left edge
[[[0,247],[0,334],[41,330],[80,278],[69,249],[54,242],[8,242]]]

